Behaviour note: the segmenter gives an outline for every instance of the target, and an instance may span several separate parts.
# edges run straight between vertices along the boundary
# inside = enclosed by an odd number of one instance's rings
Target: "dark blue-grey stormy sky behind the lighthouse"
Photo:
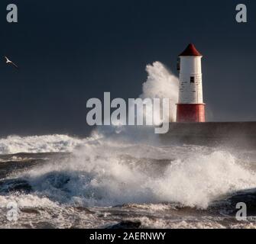
[[[6,6],[18,5],[18,24]],[[248,23],[235,21],[245,3]],[[86,101],[137,98],[148,63],[176,72],[190,42],[203,53],[209,120],[256,120],[256,2],[1,0],[0,134],[86,135]]]

